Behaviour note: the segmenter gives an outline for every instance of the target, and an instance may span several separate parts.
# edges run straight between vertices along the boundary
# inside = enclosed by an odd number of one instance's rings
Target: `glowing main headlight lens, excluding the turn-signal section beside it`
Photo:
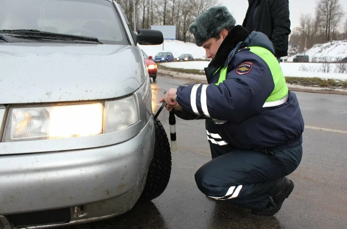
[[[10,108],[4,141],[98,135],[102,133],[102,114],[103,104],[100,102]]]

